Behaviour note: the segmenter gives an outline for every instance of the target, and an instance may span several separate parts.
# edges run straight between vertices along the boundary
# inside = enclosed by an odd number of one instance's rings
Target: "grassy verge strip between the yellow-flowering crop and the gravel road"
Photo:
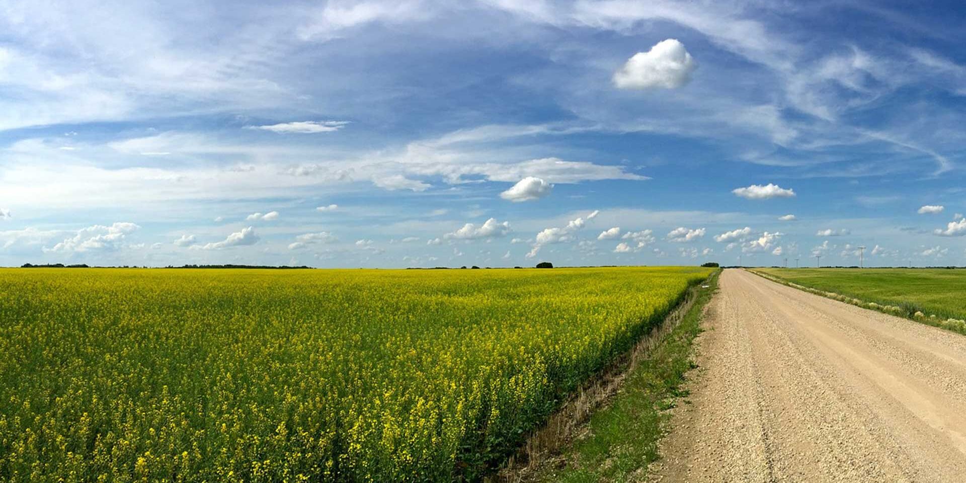
[[[696,367],[692,343],[701,332],[704,306],[717,289],[719,274],[696,286],[681,315],[632,355],[619,387],[553,455],[536,467],[504,472],[502,479],[620,482],[646,476],[648,465],[659,458],[658,442],[668,432],[668,410],[687,395],[682,384]]]

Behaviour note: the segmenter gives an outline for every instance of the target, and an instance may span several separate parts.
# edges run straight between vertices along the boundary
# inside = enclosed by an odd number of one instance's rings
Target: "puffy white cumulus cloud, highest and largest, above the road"
[[[634,54],[613,73],[613,83],[620,89],[676,89],[691,80],[696,68],[684,44],[668,39]]]

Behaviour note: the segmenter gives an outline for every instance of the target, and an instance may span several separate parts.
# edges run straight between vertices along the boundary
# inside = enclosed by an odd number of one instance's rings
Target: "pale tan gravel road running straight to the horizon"
[[[966,336],[725,270],[658,481],[966,481]]]

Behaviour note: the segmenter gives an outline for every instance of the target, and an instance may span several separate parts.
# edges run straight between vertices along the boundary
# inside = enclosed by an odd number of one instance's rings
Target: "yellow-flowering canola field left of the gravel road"
[[[0,270],[0,481],[478,479],[710,270]]]

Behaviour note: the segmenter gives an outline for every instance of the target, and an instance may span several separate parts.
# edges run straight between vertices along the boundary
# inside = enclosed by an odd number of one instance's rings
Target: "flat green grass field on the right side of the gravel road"
[[[755,269],[805,287],[894,305],[904,316],[966,319],[966,270]]]

